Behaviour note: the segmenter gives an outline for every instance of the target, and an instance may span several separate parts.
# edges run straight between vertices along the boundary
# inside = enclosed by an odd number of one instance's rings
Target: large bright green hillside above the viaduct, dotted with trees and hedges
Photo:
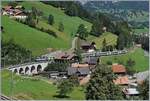
[[[7,5],[7,2],[2,2],[2,4],[3,6]],[[46,48],[69,49],[71,48],[72,35],[76,33],[80,24],[87,26],[88,30],[91,28],[91,23],[86,22],[79,17],[67,16],[62,10],[41,2],[20,2],[19,5],[23,5],[25,9],[28,10],[31,10],[32,7],[36,7],[38,10],[42,11],[43,17],[40,18],[39,23],[36,26],[39,28],[43,27],[44,29],[50,29],[58,36],[57,38],[54,38],[47,33],[37,31],[36,29],[2,16],[2,25],[5,30],[3,39],[5,41],[13,39],[17,44],[32,50],[33,55],[45,53]],[[55,24],[53,26],[47,23],[49,14],[54,16]],[[64,24],[64,32],[58,31],[60,22]]]

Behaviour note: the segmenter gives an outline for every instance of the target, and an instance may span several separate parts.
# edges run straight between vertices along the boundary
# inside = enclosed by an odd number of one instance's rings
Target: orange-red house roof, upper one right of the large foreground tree
[[[112,65],[112,71],[114,73],[125,73],[126,69],[123,65],[114,64]]]

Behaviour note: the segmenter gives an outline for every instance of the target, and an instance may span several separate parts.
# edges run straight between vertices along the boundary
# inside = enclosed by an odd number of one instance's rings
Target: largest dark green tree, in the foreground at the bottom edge
[[[111,67],[97,65],[86,88],[87,100],[121,100],[121,88],[113,83]]]

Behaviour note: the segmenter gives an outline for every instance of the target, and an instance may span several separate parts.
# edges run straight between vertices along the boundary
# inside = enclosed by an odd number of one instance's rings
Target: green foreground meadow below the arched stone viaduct
[[[7,70],[1,72],[2,76],[2,93],[11,96],[11,73]],[[13,75],[13,97],[20,100],[56,100],[57,87],[51,83],[44,82],[40,79],[23,78]],[[76,87],[72,93],[68,95],[72,100],[84,99],[84,92],[81,87]]]

